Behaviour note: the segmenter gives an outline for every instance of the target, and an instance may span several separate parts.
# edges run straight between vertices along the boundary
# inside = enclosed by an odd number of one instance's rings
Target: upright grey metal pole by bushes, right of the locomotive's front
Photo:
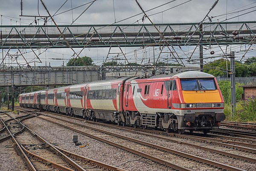
[[[232,118],[234,118],[234,113],[236,110],[236,76],[235,76],[235,52],[232,51],[230,55],[230,83],[231,83],[231,111]]]

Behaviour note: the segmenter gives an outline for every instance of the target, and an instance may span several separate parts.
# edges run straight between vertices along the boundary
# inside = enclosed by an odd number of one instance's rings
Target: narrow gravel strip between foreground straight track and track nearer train
[[[49,114],[49,115],[54,115],[54,114]],[[71,119],[71,120],[75,120],[75,119]],[[82,122],[82,121],[78,121],[78,120],[76,120],[76,122],[83,123],[84,125],[92,126],[94,128],[107,130],[107,131],[110,131],[113,133],[122,134],[124,136],[132,137],[134,139],[140,139],[141,141],[150,142],[150,143],[153,143],[156,145],[161,145],[166,148],[171,148],[171,149],[174,149],[177,151],[182,151],[184,153],[192,154],[192,155],[199,156],[202,158],[210,159],[215,162],[221,162],[226,165],[230,165],[230,166],[233,166],[236,168],[241,168],[241,169],[244,169],[247,171],[255,171],[256,170],[256,163],[246,162],[246,161],[243,161],[240,159],[233,159],[231,157],[222,156],[220,154],[212,154],[212,152],[194,148],[194,147],[191,147],[188,145],[180,145],[177,143],[170,142],[168,140],[154,138],[151,136],[141,135],[141,134],[137,134],[137,133],[131,133],[129,131],[124,131],[124,130],[120,130],[120,129],[116,129],[116,128],[110,128],[110,127],[105,127],[105,126],[101,126],[101,125],[90,124],[88,122]],[[181,138],[177,138],[177,137],[169,137],[169,138],[178,140],[178,141],[182,141],[182,142],[188,142],[188,143],[195,142],[194,140],[191,140],[191,139],[181,139]],[[217,145],[212,145],[212,148],[215,148],[216,146]]]

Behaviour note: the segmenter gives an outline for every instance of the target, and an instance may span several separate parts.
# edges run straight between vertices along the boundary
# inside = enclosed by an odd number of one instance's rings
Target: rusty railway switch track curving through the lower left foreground
[[[22,120],[28,119],[29,115],[30,114],[27,116],[21,116],[19,117],[19,120],[17,120],[17,118],[9,119],[18,121],[18,124],[22,125],[22,134],[21,130],[17,131],[15,126],[7,126],[6,130],[12,138],[12,142],[15,143],[15,150],[21,156],[23,161],[26,162],[26,165],[28,165],[30,170],[86,171],[90,169],[91,171],[124,171],[123,169],[106,165],[104,163],[64,151],[60,148],[56,148],[54,145],[50,144],[21,123]],[[26,128],[26,130],[24,130],[24,128]]]

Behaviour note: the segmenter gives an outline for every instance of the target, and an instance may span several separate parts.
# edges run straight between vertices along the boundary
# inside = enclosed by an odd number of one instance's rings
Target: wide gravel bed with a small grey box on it
[[[50,122],[38,118],[28,119],[23,122],[30,129],[38,133],[48,142],[58,144],[58,147],[71,151],[82,156],[95,159],[109,165],[117,166],[128,171],[168,171],[172,170],[151,160],[132,154],[96,139],[76,133],[72,130],[54,125]],[[89,144],[84,148],[79,148],[72,143],[72,135],[78,135],[82,145]]]

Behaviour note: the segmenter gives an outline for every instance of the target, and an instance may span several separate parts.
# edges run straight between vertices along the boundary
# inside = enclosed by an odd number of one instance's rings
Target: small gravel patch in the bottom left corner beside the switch
[[[27,171],[24,162],[12,147],[12,140],[0,143],[0,170],[1,171]]]

